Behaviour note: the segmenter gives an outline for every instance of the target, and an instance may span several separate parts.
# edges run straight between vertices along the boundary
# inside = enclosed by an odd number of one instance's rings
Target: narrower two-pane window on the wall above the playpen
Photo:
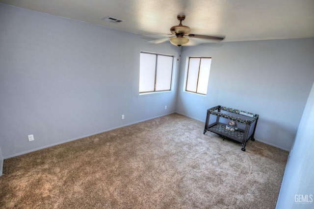
[[[186,91],[205,94],[209,80],[211,57],[190,57],[188,60]]]

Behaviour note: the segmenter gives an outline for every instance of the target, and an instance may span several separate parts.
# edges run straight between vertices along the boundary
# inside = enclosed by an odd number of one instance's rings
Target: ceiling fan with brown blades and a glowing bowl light
[[[200,39],[208,39],[208,40],[215,40],[215,41],[222,41],[224,37],[216,37],[216,36],[206,36],[206,35],[197,35],[197,34],[190,34],[190,28],[182,24],[182,21],[185,20],[185,15],[178,15],[177,19],[180,21],[179,25],[172,26],[170,28],[170,32],[172,35],[176,37],[170,37],[170,43],[176,46],[183,46],[189,42],[188,38],[183,36],[188,36],[189,38],[200,38]],[[148,41],[149,43],[153,44],[160,44],[169,40],[167,38],[155,39]]]

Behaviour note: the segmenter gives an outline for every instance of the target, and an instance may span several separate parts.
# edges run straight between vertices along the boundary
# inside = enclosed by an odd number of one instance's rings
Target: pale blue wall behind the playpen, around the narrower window
[[[314,82],[313,48],[313,38],[183,47],[182,59],[212,62],[206,96],[183,92],[182,63],[177,112],[202,121],[216,105],[259,114],[255,138],[290,150]]]

